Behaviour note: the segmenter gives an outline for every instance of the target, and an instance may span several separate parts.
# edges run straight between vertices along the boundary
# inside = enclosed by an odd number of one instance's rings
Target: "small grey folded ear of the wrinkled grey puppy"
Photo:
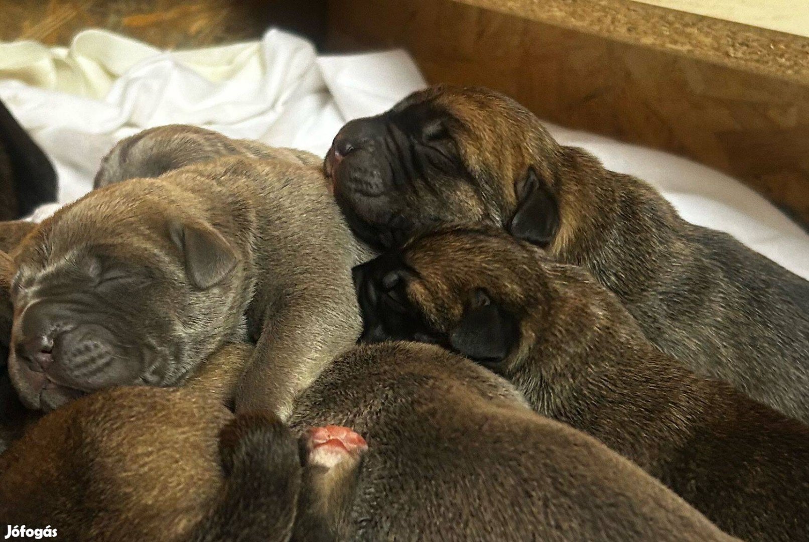
[[[238,256],[222,235],[201,221],[170,222],[172,241],[183,252],[185,272],[197,287],[214,286],[235,268]]]

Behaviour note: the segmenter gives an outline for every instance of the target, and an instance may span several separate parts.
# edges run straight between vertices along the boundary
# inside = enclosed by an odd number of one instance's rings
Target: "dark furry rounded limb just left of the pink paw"
[[[302,469],[289,428],[273,414],[241,414],[222,429],[219,452],[226,481],[190,540],[290,540]]]

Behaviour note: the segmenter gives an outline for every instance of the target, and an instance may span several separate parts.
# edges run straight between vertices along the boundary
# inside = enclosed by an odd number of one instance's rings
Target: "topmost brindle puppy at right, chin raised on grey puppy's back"
[[[659,349],[809,421],[809,283],[561,146],[515,101],[434,87],[351,121],[324,163],[354,232],[388,248],[482,221],[582,265]],[[777,360],[774,361],[774,360]]]

